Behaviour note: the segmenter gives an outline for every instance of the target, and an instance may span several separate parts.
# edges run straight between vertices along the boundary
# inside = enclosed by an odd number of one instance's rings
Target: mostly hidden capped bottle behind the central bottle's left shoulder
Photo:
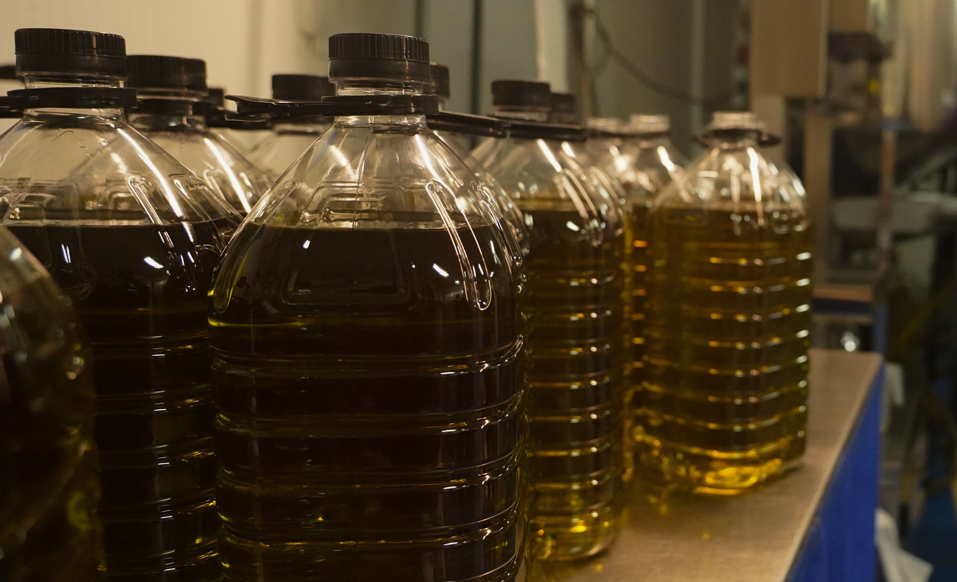
[[[274,99],[318,101],[335,93],[336,89],[327,76],[273,75]],[[270,136],[250,152],[249,161],[276,182],[331,124],[332,119],[323,117],[289,119],[277,123]]]

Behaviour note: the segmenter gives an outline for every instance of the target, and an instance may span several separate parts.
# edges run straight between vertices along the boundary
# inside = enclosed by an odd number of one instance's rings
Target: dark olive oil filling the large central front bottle
[[[211,316],[226,579],[523,579],[507,250],[417,224],[236,234]]]

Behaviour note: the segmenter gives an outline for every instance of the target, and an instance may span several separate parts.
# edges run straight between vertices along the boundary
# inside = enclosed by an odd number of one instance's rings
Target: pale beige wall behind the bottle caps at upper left
[[[115,32],[126,38],[129,54],[203,58],[211,85],[268,97],[273,73],[320,71],[316,6],[312,0],[0,0],[0,62],[12,62],[19,28]]]

